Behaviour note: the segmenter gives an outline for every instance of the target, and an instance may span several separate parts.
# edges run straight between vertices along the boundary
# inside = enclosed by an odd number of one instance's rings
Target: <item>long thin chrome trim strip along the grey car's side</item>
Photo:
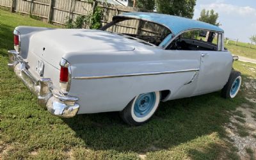
[[[134,76],[154,76],[160,74],[176,74],[182,72],[198,72],[199,68],[187,69],[187,70],[175,70],[175,71],[165,71],[165,72],[148,72],[148,73],[138,73],[138,74],[118,74],[111,76],[86,76],[86,77],[72,77],[72,79],[104,79],[104,78],[117,78],[117,77],[134,77]]]

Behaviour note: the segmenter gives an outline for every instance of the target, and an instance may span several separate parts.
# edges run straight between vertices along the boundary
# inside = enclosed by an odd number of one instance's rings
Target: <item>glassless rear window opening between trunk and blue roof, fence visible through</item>
[[[146,45],[157,46],[171,33],[170,29],[160,24],[139,19],[116,20],[104,26],[102,30],[126,35],[125,37]]]

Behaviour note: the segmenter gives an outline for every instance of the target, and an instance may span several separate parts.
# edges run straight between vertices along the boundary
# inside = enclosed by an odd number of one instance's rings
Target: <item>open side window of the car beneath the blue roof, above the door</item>
[[[166,48],[186,51],[221,51],[222,34],[212,31],[191,30],[177,36]]]

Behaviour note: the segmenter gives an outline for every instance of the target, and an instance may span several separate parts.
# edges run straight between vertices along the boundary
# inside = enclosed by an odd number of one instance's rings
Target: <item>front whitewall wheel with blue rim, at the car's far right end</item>
[[[232,70],[227,84],[221,90],[221,97],[225,99],[234,99],[240,90],[242,84],[241,73]]]

